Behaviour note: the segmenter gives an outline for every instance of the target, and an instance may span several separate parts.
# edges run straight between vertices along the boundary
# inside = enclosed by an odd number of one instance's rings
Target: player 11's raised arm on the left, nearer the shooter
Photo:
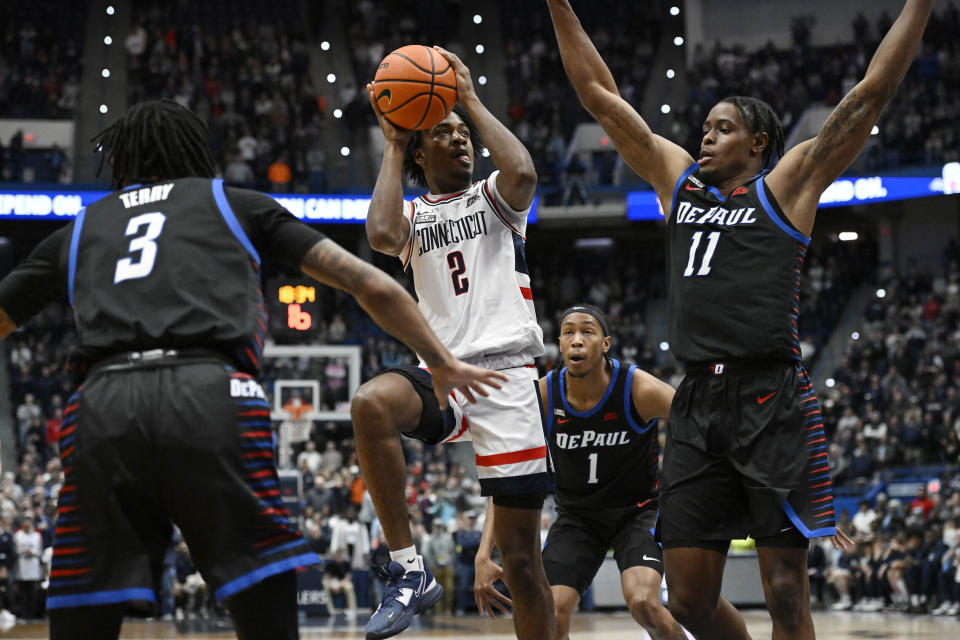
[[[679,145],[656,135],[620,97],[610,69],[583,30],[568,0],[547,0],[567,77],[580,103],[613,140],[630,168],[653,185],[668,211],[677,178],[693,164]]]

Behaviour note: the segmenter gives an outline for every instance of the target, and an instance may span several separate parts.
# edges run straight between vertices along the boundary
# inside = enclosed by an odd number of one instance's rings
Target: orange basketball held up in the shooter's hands
[[[422,44],[387,54],[373,79],[377,106],[403,129],[429,129],[457,101],[457,76],[442,55]]]

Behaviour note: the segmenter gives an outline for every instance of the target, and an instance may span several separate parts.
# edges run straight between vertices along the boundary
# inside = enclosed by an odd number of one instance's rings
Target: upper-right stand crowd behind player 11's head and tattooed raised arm
[[[816,20],[793,18],[790,48],[778,49],[772,42],[756,51],[719,40],[712,46],[698,44],[687,73],[688,101],[677,110],[668,137],[693,153],[700,147],[707,112],[730,95],[756,96],[769,103],[786,135],[807,106],[838,104],[863,77],[893,19],[884,12],[871,23],[860,14],[850,40],[829,46],[811,44]],[[960,159],[955,126],[960,116],[960,49],[952,35],[958,29],[960,12],[954,2],[935,7],[917,60],[880,119],[877,144],[868,147],[864,169]]]

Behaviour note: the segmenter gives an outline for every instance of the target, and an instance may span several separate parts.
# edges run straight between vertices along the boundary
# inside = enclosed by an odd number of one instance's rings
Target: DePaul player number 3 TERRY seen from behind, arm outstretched
[[[442,407],[454,388],[472,401],[503,376],[455,360],[390,276],[213,178],[187,109],[136,105],[95,140],[118,190],[0,281],[0,339],[69,298],[85,375],[60,438],[50,637],[118,638],[125,610],[151,610],[175,524],[240,638],[297,638],[295,569],[320,558],[280,499],[255,378],[261,258],[353,295],[429,362]]]

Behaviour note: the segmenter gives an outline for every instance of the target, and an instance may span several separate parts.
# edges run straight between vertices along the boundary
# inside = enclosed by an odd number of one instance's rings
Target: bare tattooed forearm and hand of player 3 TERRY
[[[456,360],[440,343],[417,303],[403,287],[333,240],[324,238],[313,245],[300,268],[308,276],[353,295],[378,325],[416,351],[430,367],[434,393],[441,408],[446,408],[447,396],[454,388],[474,402],[474,392],[487,395],[483,384],[500,388],[496,381],[506,380],[502,374]]]

